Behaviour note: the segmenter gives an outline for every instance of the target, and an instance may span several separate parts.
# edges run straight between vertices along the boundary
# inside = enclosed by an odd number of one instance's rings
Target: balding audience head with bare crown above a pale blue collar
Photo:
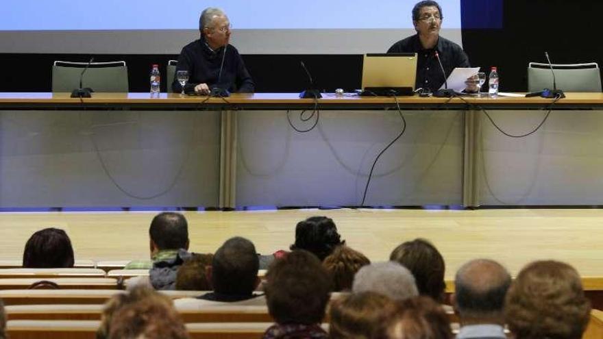
[[[504,298],[510,284],[506,268],[493,260],[471,260],[460,266],[453,304],[461,322],[504,324]]]

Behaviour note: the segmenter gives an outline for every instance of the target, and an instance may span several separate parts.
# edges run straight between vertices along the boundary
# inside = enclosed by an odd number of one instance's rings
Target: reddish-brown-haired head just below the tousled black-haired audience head
[[[354,275],[362,266],[371,264],[369,258],[345,245],[338,246],[323,260],[323,267],[330,273],[333,291],[352,290]]]

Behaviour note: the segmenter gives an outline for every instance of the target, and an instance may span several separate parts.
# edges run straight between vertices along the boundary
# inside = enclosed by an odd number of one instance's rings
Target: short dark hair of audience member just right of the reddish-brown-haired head
[[[253,242],[234,237],[226,240],[212,260],[212,286],[223,294],[251,294],[258,281],[260,259]]]

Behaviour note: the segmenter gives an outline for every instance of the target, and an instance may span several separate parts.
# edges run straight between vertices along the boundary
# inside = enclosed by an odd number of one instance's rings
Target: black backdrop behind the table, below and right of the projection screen
[[[501,90],[526,91],[529,61],[601,63],[603,47],[598,15],[603,1],[461,0],[463,47],[472,66],[497,66]],[[410,20],[410,13],[408,16]],[[400,37],[404,38],[404,37]],[[392,41],[393,43],[393,41]],[[384,46],[386,51],[389,46]],[[375,52],[375,51],[370,51]],[[162,65],[177,55],[94,55],[95,61],[125,60],[130,91],[149,90],[152,64]],[[0,92],[49,92],[54,60],[87,62],[90,55],[0,53],[3,79]],[[258,92],[298,92],[307,86],[299,61],[304,60],[317,86],[333,91],[360,87],[361,55],[243,55]],[[12,66],[8,66],[12,65]],[[165,79],[165,77],[164,77]],[[165,81],[162,91],[165,91]]]

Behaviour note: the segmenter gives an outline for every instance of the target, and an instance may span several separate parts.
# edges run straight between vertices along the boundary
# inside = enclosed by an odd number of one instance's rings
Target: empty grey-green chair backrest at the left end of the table
[[[79,88],[79,76],[87,62],[56,61],[52,66],[52,91],[71,92]],[[95,92],[128,92],[125,61],[93,62],[82,78],[82,86]]]

